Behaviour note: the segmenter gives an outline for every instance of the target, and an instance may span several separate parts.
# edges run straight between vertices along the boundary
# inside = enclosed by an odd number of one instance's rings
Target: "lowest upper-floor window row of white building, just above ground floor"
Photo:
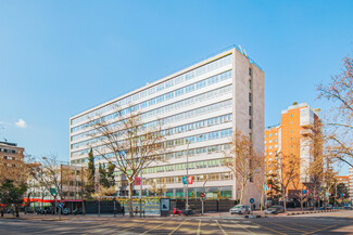
[[[210,174],[197,174],[192,177],[192,182],[205,182],[207,181],[229,181],[232,180],[232,174],[230,172],[225,173],[210,173]],[[117,186],[127,186],[127,181],[116,182]],[[167,178],[151,178],[148,180],[142,180],[142,185],[153,185],[153,184],[182,184],[182,177],[167,177]]]

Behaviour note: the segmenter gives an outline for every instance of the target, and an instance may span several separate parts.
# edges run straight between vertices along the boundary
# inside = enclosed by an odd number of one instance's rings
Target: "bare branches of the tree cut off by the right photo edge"
[[[327,120],[330,155],[353,167],[353,58],[343,58],[341,74],[331,76],[328,84],[319,84],[318,97],[332,102]]]

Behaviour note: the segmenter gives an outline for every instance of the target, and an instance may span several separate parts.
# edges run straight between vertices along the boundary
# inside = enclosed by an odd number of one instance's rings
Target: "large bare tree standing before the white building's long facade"
[[[108,162],[115,166],[128,182],[130,217],[133,212],[133,185],[143,168],[162,159],[166,149],[163,143],[162,122],[147,126],[136,112],[123,114],[116,107],[117,121],[114,125],[100,117],[94,121],[96,133],[100,147],[94,151]]]

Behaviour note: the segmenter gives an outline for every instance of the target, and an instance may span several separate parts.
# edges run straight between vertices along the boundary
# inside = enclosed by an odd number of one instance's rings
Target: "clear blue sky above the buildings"
[[[68,160],[71,116],[231,44],[265,71],[266,126],[294,101],[325,112],[315,88],[353,52],[352,12],[328,0],[0,1],[0,139]]]

